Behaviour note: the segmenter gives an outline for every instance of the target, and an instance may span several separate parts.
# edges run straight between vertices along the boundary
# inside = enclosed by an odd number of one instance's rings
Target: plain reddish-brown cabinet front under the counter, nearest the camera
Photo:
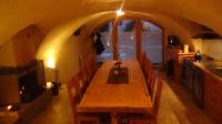
[[[204,110],[222,123],[222,80],[205,73]]]

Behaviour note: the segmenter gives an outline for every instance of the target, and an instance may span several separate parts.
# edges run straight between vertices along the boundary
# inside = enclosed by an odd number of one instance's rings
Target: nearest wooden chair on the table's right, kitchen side
[[[154,93],[152,96],[153,108],[150,113],[131,113],[128,114],[128,121],[121,124],[157,124],[160,97],[162,91],[162,78],[155,82]]]

